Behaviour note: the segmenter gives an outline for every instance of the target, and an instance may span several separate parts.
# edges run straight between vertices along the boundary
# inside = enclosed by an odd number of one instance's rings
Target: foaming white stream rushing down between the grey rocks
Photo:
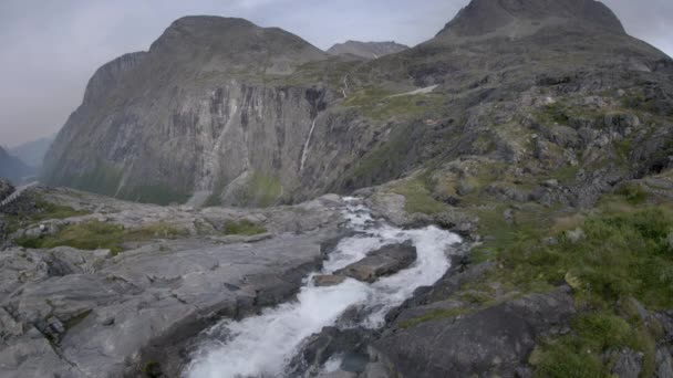
[[[302,342],[323,327],[334,326],[346,309],[362,306],[362,326],[384,325],[385,314],[421,287],[434,284],[449,267],[452,245],[460,238],[435,227],[402,230],[376,222],[369,209],[346,198],[345,217],[356,234],[343,239],[314,274],[329,274],[358,262],[386,244],[411,240],[417,260],[408,269],[373,284],[355,280],[318,287],[306,280],[297,300],[240,322],[226,319],[206,332],[207,339],[184,371],[186,378],[282,377]]]

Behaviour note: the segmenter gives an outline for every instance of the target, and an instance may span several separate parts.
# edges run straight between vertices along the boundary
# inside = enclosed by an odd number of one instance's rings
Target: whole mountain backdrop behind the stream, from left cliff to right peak
[[[672,70],[593,0],[474,0],[435,38],[372,61],[330,57],[245,20],[190,17],[96,72],[44,179],[131,200],[255,207],[431,167],[454,177],[452,165],[478,158],[524,172],[495,186],[604,167],[562,196],[591,203],[667,165]],[[635,133],[643,124],[658,132]]]

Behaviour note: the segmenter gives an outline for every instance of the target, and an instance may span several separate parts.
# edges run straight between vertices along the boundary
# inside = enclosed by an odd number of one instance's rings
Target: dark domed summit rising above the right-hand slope
[[[625,33],[617,15],[596,0],[473,0],[437,34],[480,36],[511,34],[553,24],[581,24]]]

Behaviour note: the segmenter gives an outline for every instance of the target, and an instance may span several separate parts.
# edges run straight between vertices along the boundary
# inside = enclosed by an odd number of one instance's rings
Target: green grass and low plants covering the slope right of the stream
[[[420,180],[406,186],[424,192]],[[624,348],[643,354],[642,376],[651,376],[664,332],[656,321],[642,319],[635,303],[650,311],[673,307],[673,206],[646,199],[642,187],[627,185],[586,212],[536,203],[469,208],[486,235],[472,260],[494,267],[447,297],[462,307],[431,311],[400,326],[472,314],[566,282],[579,313],[570,333],[539,340],[530,356],[536,377],[610,377],[610,356]]]

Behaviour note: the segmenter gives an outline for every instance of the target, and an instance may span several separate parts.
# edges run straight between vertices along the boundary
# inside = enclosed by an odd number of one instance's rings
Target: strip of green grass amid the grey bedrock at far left
[[[54,235],[40,238],[22,237],[14,241],[18,245],[33,249],[72,246],[80,250],[107,249],[114,254],[124,251],[125,242],[139,242],[152,239],[176,239],[186,235],[172,224],[156,223],[136,230],[97,220],[70,224]]]

